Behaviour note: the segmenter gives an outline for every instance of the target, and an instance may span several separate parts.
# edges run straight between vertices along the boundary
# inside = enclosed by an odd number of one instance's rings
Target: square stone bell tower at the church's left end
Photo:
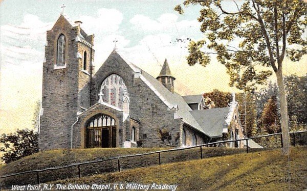
[[[90,107],[90,81],[94,73],[94,35],[81,21],[62,12],[47,31],[42,76],[42,114],[39,148],[71,148],[72,125],[78,113]]]

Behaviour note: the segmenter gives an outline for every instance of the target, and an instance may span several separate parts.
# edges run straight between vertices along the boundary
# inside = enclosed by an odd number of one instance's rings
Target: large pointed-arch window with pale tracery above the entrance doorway
[[[128,92],[121,76],[111,74],[105,78],[101,84],[100,95],[103,102],[119,107],[126,113],[129,112]]]

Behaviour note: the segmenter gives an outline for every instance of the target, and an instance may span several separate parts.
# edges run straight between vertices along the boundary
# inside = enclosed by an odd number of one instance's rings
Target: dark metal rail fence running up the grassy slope
[[[305,133],[307,130],[304,131],[295,131],[295,132],[290,132],[290,137],[292,137],[292,145],[296,145],[296,134],[301,134]],[[292,134],[292,136],[291,136]],[[226,143],[232,143],[232,142],[241,142],[245,141],[246,142],[246,152],[249,152],[249,140],[253,139],[259,139],[259,138],[266,138],[266,137],[272,137],[272,136],[278,136],[280,135],[280,146],[282,147],[282,134],[281,133],[274,133],[274,134],[267,134],[267,135],[261,135],[258,137],[252,137],[252,138],[245,138],[245,139],[239,139],[239,140],[227,140],[227,141],[218,141],[218,142],[213,142],[213,143],[207,143],[207,144],[202,144],[202,145],[196,145],[196,146],[191,146],[191,147],[186,147],[186,148],[176,148],[176,149],[169,149],[169,150],[161,150],[161,151],[155,151],[155,152],[148,152],[148,153],[142,153],[142,154],[134,154],[134,155],[125,155],[125,156],[118,156],[118,157],[112,157],[112,158],[107,158],[107,159],[100,159],[100,160],[93,160],[93,161],[86,161],[86,162],[80,162],[80,163],[73,163],[71,165],[67,166],[62,166],[62,167],[53,167],[53,168],[47,168],[47,169],[42,169],[42,170],[33,170],[33,171],[26,171],[26,172],[20,172],[20,173],[14,173],[14,174],[9,174],[0,177],[0,190],[2,190],[2,181],[4,178],[9,178],[9,177],[15,177],[17,175],[23,175],[23,174],[35,174],[36,176],[36,183],[40,184],[42,183],[40,181],[40,174],[45,171],[53,171],[53,170],[60,170],[60,169],[65,169],[65,168],[72,168],[72,167],[77,167],[78,170],[76,171],[78,173],[78,177],[81,177],[81,166],[89,165],[92,163],[98,163],[98,162],[105,162],[105,161],[116,161],[116,171],[120,172],[121,171],[121,159],[124,158],[131,158],[131,157],[138,157],[138,156],[145,156],[145,155],[157,155],[157,161],[159,162],[159,166],[161,165],[161,153],[165,152],[173,152],[173,151],[181,151],[181,150],[189,150],[193,148],[199,148],[200,149],[200,158],[203,159],[203,147],[211,147],[211,146],[216,146],[216,145],[221,145],[221,144],[226,144]]]

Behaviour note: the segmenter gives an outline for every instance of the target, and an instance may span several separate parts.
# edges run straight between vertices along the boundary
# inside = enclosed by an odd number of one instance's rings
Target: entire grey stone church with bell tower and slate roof
[[[94,35],[61,14],[47,31],[39,148],[185,147],[244,138],[237,102],[209,109],[174,92],[167,60],[153,77],[116,50],[94,71]],[[235,142],[227,147],[244,147]]]

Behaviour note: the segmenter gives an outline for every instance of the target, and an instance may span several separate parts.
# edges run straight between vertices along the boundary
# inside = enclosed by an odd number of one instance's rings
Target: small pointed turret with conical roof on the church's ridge
[[[170,92],[174,93],[174,78],[171,75],[167,60],[165,59],[161,72],[157,79],[165,86]]]

